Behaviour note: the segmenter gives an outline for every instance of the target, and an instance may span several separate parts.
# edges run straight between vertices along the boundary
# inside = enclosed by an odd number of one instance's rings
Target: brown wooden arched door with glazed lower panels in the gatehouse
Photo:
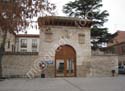
[[[55,54],[55,77],[76,77],[76,51],[69,45],[61,45]]]

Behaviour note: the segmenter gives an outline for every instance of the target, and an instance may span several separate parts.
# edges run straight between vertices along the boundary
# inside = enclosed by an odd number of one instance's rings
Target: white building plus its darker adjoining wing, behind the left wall
[[[0,30],[0,46],[3,42],[4,31]],[[7,31],[5,52],[39,52],[39,35],[16,34]]]

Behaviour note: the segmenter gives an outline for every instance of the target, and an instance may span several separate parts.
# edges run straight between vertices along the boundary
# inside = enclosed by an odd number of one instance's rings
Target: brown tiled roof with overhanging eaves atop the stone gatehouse
[[[91,20],[74,18],[74,17],[46,16],[46,17],[39,17],[38,18],[38,25],[40,27],[42,27],[43,25],[90,27],[91,24],[92,24]]]

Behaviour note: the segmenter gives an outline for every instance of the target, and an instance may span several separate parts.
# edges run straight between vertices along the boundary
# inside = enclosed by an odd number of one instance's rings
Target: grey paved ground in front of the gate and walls
[[[6,79],[0,91],[125,91],[125,77]]]

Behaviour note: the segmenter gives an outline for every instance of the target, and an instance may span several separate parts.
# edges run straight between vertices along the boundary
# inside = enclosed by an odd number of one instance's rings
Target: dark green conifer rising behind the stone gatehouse
[[[107,10],[102,11],[102,6],[102,0],[75,0],[63,7],[63,12],[68,16],[92,21],[91,37],[98,40],[92,42],[94,47],[98,47],[100,42],[107,41],[107,36],[110,35],[107,28],[103,28],[109,13]]]

